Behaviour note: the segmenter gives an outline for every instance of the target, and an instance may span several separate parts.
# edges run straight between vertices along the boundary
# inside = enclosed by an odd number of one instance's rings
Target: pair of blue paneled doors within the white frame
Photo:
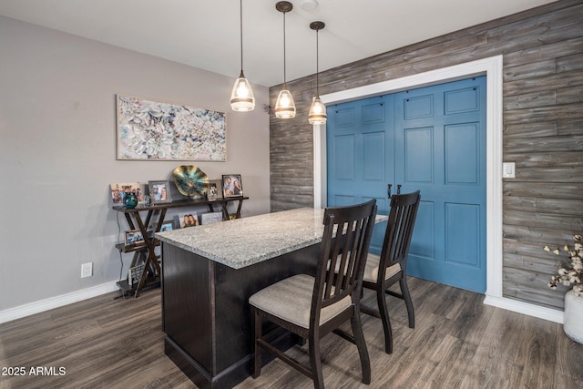
[[[328,107],[328,205],[421,190],[407,274],[486,292],[486,77]],[[386,224],[375,227],[379,253]]]

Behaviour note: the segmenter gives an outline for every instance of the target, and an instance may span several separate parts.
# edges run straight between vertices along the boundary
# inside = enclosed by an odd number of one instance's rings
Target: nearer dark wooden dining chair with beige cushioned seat
[[[324,210],[324,230],[315,277],[297,274],[251,295],[254,378],[261,374],[263,349],[311,378],[315,388],[323,388],[320,340],[333,332],[356,344],[363,383],[370,384],[371,365],[364,342],[360,301],[364,261],[375,216],[376,200],[349,207],[327,208]],[[339,274],[328,271],[336,267],[337,261],[340,268],[346,271]],[[267,322],[276,324],[275,329],[262,333],[264,321],[266,325],[269,325]],[[339,329],[348,321],[352,325],[352,334]],[[270,343],[271,333],[279,328],[307,340],[309,364],[297,361]]]

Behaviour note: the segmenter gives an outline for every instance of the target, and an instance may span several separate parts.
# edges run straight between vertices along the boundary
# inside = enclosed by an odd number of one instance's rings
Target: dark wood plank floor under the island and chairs
[[[570,341],[562,325],[484,305],[482,295],[432,282],[412,278],[410,289],[414,330],[407,327],[404,303],[389,297],[392,355],[384,353],[380,320],[363,315],[372,384],[361,383],[352,343],[333,334],[322,340],[326,387],[583,387],[583,345]],[[0,324],[0,388],[195,387],[164,354],[160,290],[138,299],[116,295]],[[365,302],[373,304],[370,292]],[[305,347],[292,353],[307,358]],[[25,374],[14,375],[20,367]],[[312,382],[276,360],[258,379],[236,387],[311,388]]]

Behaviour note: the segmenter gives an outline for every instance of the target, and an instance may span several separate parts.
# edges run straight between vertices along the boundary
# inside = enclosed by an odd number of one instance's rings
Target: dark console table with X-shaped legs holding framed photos
[[[139,204],[136,208],[128,209],[124,208],[123,206],[113,207],[113,210],[124,214],[130,230],[139,230],[144,237],[144,244],[142,245],[127,246],[124,243],[118,243],[116,245],[116,248],[120,252],[134,253],[130,268],[136,266],[139,262],[144,263],[144,271],[142,272],[138,285],[130,286],[128,280],[122,280],[118,282],[119,289],[123,292],[123,294],[133,293],[135,297],[138,297],[139,292],[144,287],[157,287],[160,285],[160,262],[159,257],[156,255],[155,251],[156,247],[159,246],[159,241],[154,234],[159,232],[162,223],[164,222],[164,218],[166,217],[167,210],[170,208],[207,206],[209,207],[210,212],[214,212],[215,206],[220,206],[220,210],[222,211],[222,219],[230,220],[230,214],[227,206],[230,202],[238,201],[239,203],[237,205],[237,210],[232,216],[234,216],[235,219],[240,219],[240,209],[243,204],[243,200],[248,199],[248,197],[232,197],[218,200],[179,200],[165,204]],[[155,211],[159,211],[158,220],[153,224],[154,230],[148,234],[148,226]],[[140,213],[145,215],[145,220],[142,219],[142,215]]]

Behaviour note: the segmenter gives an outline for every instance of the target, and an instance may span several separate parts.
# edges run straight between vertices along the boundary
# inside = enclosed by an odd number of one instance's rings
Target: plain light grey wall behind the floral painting
[[[241,174],[243,216],[269,212],[269,92],[253,86],[257,108],[230,110],[236,54],[223,77],[2,16],[0,53],[0,313],[118,281],[111,182],[196,165],[210,179]],[[227,161],[117,160],[117,94],[226,112]],[[85,262],[94,275],[81,279]]]

